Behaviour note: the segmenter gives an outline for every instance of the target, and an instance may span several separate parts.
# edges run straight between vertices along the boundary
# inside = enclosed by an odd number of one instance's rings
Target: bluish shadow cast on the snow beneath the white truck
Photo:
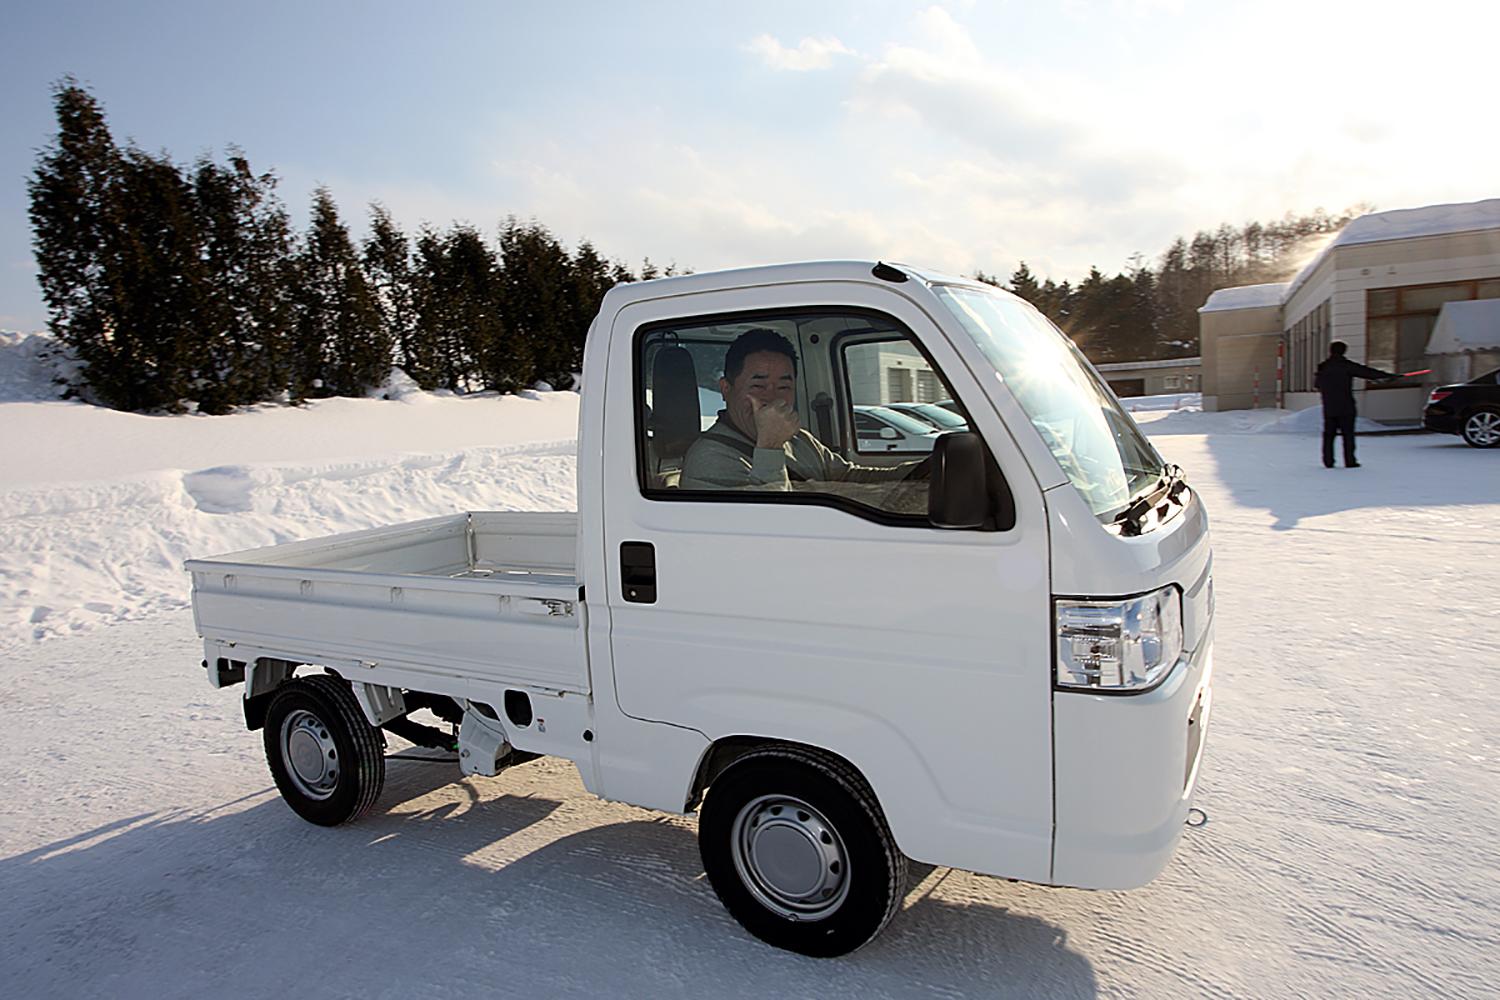
[[[406,807],[447,777],[393,765],[376,813],[346,828],[310,826],[258,793],[0,859],[8,991],[1096,994],[1090,964],[1060,928],[1005,906],[933,898],[945,870],[872,945],[812,960],[734,922],[704,877],[690,822],[609,807],[624,819],[549,834],[554,820],[578,826],[566,801],[484,799],[466,783],[434,808]]]

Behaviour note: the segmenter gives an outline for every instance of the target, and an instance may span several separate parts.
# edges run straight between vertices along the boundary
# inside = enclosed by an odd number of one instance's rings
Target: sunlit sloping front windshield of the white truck
[[[934,291],[1101,520],[1156,484],[1161,456],[1078,348],[1046,316],[1011,295],[954,285]]]

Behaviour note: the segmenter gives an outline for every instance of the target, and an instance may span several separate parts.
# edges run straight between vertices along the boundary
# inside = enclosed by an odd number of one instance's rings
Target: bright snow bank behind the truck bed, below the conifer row
[[[34,346],[0,349],[8,399],[51,385]],[[225,417],[0,403],[0,645],[184,607],[192,556],[574,507],[576,393],[456,397],[396,372],[380,396]]]

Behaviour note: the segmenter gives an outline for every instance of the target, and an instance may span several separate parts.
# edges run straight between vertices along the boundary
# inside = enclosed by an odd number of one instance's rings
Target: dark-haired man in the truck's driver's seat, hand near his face
[[[724,408],[687,450],[681,487],[790,490],[801,481],[879,483],[915,478],[926,469],[927,459],[878,468],[834,454],[802,429],[792,409],[795,390],[790,340],[765,327],[740,334],[718,379]]]

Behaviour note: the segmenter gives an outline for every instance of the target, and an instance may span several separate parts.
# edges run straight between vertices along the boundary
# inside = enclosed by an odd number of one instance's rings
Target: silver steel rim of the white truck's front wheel
[[[818,921],[849,897],[849,852],[828,819],[788,795],[746,804],[730,829],[740,880],[772,913]]]

